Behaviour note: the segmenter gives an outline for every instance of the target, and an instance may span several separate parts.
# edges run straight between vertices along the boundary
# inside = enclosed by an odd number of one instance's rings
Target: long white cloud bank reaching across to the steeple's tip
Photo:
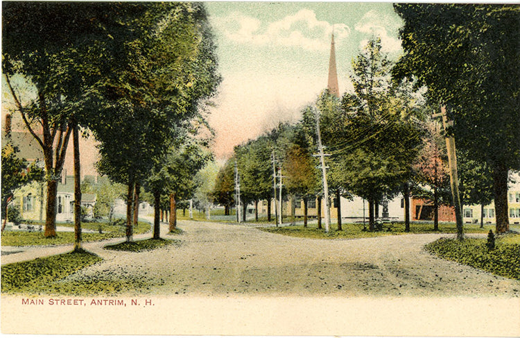
[[[234,12],[227,17],[216,18],[215,24],[219,31],[233,42],[257,46],[298,47],[310,51],[329,49],[329,37],[333,27],[329,22],[319,21],[315,13],[308,9],[263,25],[259,19]],[[334,25],[336,42],[345,40],[349,33],[350,28],[347,25]]]

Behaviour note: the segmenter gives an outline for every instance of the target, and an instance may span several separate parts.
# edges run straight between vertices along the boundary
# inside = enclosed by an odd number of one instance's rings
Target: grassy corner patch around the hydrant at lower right
[[[458,241],[442,238],[426,245],[426,250],[447,260],[520,280],[520,235],[499,237],[496,242],[496,248],[488,250],[486,239]]]

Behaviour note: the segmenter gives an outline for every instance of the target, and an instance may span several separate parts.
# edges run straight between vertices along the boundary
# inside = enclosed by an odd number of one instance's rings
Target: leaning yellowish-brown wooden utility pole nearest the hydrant
[[[444,134],[446,137],[446,148],[448,151],[449,163],[449,182],[451,185],[451,197],[453,198],[453,205],[455,205],[455,219],[457,222],[457,239],[464,239],[464,228],[462,221],[462,206],[460,204],[460,195],[458,192],[458,176],[457,176],[457,156],[455,153],[455,137],[447,135],[447,128],[453,126],[453,121],[448,121],[446,116],[446,106],[441,105],[440,114],[432,115],[435,117],[442,117],[442,125],[444,126]]]

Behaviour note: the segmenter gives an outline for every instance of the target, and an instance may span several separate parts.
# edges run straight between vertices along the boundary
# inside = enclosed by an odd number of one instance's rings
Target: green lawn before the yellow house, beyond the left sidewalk
[[[56,223],[56,226],[73,227],[71,223]],[[125,228],[121,226],[121,222],[109,223],[82,223],[82,229],[96,230],[101,227],[103,233],[82,233],[83,242],[96,242],[103,239],[111,239],[125,236]],[[146,233],[150,231],[150,224],[145,222],[137,223],[134,233]],[[60,244],[73,244],[74,233],[58,232],[54,238],[45,238],[43,232],[27,232],[27,231],[4,231],[1,235],[1,244],[3,246],[51,246]]]

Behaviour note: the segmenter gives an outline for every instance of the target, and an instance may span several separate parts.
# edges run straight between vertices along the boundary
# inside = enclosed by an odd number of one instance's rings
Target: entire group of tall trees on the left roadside
[[[44,154],[45,236],[56,235],[58,179],[72,139],[80,247],[79,134],[85,133],[98,142],[99,173],[127,187],[127,240],[141,187],[153,196],[159,237],[161,198],[193,194],[192,176],[212,156],[204,105],[220,76],[202,3],[2,6],[3,74]]]

